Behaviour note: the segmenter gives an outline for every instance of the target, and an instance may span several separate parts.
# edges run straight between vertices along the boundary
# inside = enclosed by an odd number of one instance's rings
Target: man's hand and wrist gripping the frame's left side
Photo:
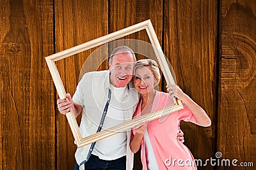
[[[70,94],[66,94],[66,97],[67,97],[68,101],[66,99],[58,99],[57,100],[58,110],[63,115],[66,115],[66,113],[68,113],[68,111],[72,110],[74,112],[75,117],[77,117],[83,110],[82,106],[74,103]]]

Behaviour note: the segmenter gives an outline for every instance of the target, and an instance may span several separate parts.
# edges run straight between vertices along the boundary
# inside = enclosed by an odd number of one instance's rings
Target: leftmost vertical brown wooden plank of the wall
[[[54,169],[51,1],[1,1],[3,169]],[[3,11],[3,13],[2,13]]]

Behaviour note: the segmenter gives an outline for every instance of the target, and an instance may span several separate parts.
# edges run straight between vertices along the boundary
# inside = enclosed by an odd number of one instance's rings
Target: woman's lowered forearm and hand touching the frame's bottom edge
[[[132,153],[136,153],[140,149],[141,141],[143,139],[146,129],[147,124],[143,124],[140,127],[138,127],[138,129],[135,130],[136,134],[133,136],[133,138],[131,138],[130,141],[130,148]]]

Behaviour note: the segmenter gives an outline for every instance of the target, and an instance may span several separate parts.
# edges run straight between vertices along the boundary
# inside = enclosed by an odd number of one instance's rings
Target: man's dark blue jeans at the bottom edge
[[[102,160],[95,155],[91,155],[90,159],[82,166],[85,166],[86,170],[125,170],[126,169],[126,156],[120,157],[115,160]],[[75,170],[79,170],[79,166],[76,163]]]

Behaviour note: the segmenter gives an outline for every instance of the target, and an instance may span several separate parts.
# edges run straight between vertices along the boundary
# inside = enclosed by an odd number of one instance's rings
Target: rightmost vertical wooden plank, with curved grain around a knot
[[[220,50],[218,150],[255,169],[256,1],[221,0]]]

